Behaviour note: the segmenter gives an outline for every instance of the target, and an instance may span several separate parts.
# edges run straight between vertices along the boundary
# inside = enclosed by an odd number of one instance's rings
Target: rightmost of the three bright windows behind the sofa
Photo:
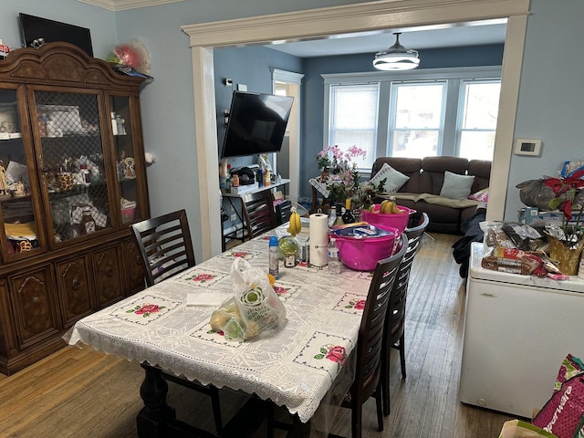
[[[492,160],[495,149],[496,117],[500,80],[461,81],[458,111],[458,155],[468,159]]]

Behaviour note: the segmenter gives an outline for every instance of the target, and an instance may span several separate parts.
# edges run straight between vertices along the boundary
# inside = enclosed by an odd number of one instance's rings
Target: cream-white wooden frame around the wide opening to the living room
[[[404,26],[508,18],[489,193],[489,220],[505,213],[529,0],[381,0],[183,26],[193,55],[194,127],[203,259],[221,252],[213,47],[267,44]],[[292,175],[291,175],[292,176]]]

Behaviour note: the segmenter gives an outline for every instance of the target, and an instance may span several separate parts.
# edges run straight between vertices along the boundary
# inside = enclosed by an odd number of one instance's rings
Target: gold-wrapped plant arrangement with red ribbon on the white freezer
[[[560,210],[563,214],[562,224],[551,225],[546,227],[548,235],[551,235],[563,242],[569,248],[575,248],[579,245],[584,237],[582,229],[582,213],[584,203],[576,205],[574,200],[580,189],[584,187],[584,169],[573,172],[568,176],[559,178],[546,178],[544,183],[551,187],[555,197],[549,202],[552,210]],[[573,208],[579,208],[574,223]]]

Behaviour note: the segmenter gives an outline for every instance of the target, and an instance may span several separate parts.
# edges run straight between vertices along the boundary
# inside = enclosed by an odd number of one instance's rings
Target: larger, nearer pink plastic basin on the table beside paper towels
[[[391,235],[381,237],[346,237],[330,235],[337,239],[339,259],[343,265],[357,271],[372,271],[377,261],[393,254],[396,236],[401,235],[391,226],[375,225],[382,230],[390,231]]]

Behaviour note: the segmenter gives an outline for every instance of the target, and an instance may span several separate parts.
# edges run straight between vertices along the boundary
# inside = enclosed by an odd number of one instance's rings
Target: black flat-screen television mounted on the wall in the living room
[[[221,158],[280,151],[293,101],[291,96],[234,91]]]

